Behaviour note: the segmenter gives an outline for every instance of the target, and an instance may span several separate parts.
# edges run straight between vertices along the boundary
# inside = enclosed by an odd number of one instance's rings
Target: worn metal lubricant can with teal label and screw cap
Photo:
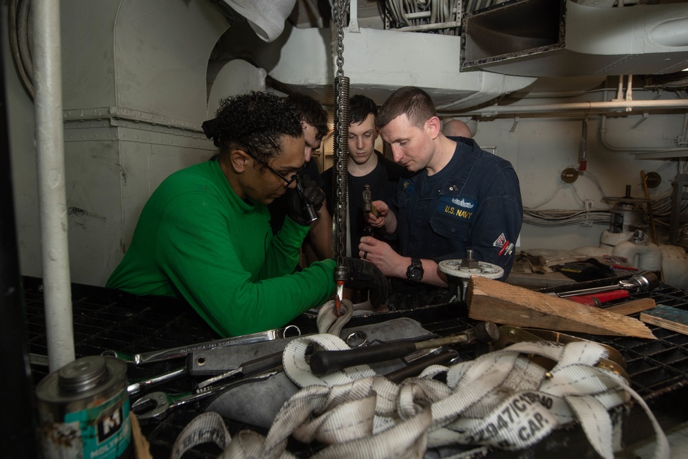
[[[105,356],[67,363],[36,385],[46,459],[133,456],[127,364]]]

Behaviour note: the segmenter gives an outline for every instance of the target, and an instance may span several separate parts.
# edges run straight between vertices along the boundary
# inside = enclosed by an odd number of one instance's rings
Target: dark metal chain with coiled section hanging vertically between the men
[[[336,25],[337,71],[334,78],[334,157],[332,174],[332,254],[338,266],[346,255],[347,240],[347,164],[349,158],[349,78],[344,76],[344,21],[349,10],[349,0],[337,0],[333,11]]]

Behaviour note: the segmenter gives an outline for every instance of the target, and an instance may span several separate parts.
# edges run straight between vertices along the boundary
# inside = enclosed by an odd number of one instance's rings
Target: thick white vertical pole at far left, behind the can
[[[36,0],[31,5],[31,14],[45,327],[50,372],[54,372],[74,360],[62,120],[60,2]]]

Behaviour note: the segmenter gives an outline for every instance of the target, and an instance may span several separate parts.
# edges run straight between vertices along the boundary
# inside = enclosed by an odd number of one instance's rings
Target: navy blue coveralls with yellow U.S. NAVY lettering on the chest
[[[523,222],[519,181],[512,165],[484,151],[475,140],[451,137],[457,145],[449,163],[428,176],[422,169],[399,182],[399,253],[405,257],[464,259],[513,265]]]

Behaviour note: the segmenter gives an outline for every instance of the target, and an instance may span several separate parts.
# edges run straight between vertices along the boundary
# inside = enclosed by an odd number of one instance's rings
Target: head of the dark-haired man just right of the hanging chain
[[[365,164],[373,156],[378,131],[375,117],[378,106],[366,96],[358,94],[349,100],[349,158]]]

